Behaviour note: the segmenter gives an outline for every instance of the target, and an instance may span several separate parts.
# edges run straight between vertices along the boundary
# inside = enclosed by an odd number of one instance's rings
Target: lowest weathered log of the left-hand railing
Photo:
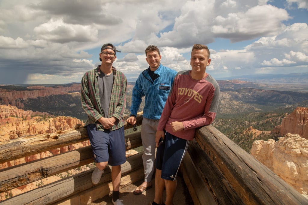
[[[142,153],[130,156],[121,165],[122,175],[134,171],[143,166]],[[93,169],[84,171],[80,174],[67,177],[65,179],[47,184],[26,193],[14,196],[2,201],[5,204],[51,204],[71,195],[85,191],[95,185],[91,182]],[[105,172],[98,184],[111,181],[110,168],[105,168]]]

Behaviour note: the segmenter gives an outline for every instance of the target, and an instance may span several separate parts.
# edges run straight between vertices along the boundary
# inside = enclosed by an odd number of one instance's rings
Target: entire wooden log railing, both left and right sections
[[[140,125],[142,116],[138,116]],[[130,128],[131,125],[125,125]],[[138,130],[140,131],[140,130]],[[127,150],[141,146],[140,132],[125,136]],[[0,162],[7,162],[50,149],[87,140],[84,128],[55,136],[22,137],[0,143]],[[7,153],[10,152],[10,153]],[[91,148],[84,147],[41,160],[0,170],[0,192],[93,162]],[[143,178],[141,153],[128,157],[122,176],[133,181]],[[308,204],[298,191],[280,179],[212,125],[199,128],[191,142],[180,171],[194,204]],[[98,185],[91,172],[69,176],[32,191],[3,200],[3,204],[71,204],[93,201],[95,189],[109,193],[110,169]],[[121,180],[122,181],[122,180]],[[103,189],[101,187],[104,187]],[[91,193],[88,193],[91,192]],[[83,193],[83,194],[80,194]],[[78,197],[77,197],[78,195]],[[96,198],[95,198],[96,197]],[[75,200],[75,201],[74,201]],[[82,202],[81,202],[82,201]]]

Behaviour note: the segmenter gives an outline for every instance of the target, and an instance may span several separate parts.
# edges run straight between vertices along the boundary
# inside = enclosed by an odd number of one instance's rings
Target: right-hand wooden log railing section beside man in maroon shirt
[[[298,191],[212,125],[196,131],[182,165],[195,204],[308,204]]]

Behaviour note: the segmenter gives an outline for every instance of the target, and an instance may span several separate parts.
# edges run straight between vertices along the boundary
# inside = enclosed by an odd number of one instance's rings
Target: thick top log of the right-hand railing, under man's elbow
[[[212,125],[198,129],[195,139],[242,203],[307,204],[298,191]]]

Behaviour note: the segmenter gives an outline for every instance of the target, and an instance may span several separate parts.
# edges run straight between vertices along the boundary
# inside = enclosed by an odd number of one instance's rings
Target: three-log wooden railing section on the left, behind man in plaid
[[[141,125],[142,115],[137,116],[137,126]],[[132,128],[125,124],[124,129]],[[64,147],[88,140],[85,128],[79,128],[70,132],[62,132],[54,135],[38,135],[20,137],[5,142],[0,142],[0,163],[20,159],[22,157],[45,152],[51,149]],[[142,146],[141,132],[125,136],[126,150]],[[26,185],[31,182],[50,177],[73,168],[77,168],[94,162],[91,147],[83,147],[62,154],[46,157],[40,160],[19,164],[0,170],[0,192]],[[122,174],[142,168],[140,155],[127,158],[127,162],[121,165]],[[104,177],[99,184],[111,180],[110,169],[105,169]],[[94,185],[91,183],[91,172],[85,171],[69,178],[38,187],[21,195],[1,201],[3,204],[49,204],[70,197],[81,191],[85,191]],[[136,180],[139,178],[136,178]],[[79,184],[79,188],[76,185]],[[65,187],[65,191],[62,188]],[[60,192],[56,190],[61,190]],[[35,197],[34,197],[35,196]],[[92,200],[95,200],[92,198]]]

